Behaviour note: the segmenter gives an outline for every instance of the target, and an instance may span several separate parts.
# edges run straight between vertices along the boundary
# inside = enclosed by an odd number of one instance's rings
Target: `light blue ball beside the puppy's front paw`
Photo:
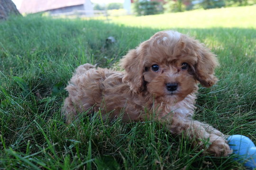
[[[233,153],[237,154],[235,160],[240,160],[247,167],[256,168],[256,146],[248,137],[232,135],[227,140]]]

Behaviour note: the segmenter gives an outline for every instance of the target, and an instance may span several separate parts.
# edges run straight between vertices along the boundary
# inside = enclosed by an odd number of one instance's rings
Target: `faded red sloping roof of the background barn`
[[[51,9],[82,5],[85,0],[23,0],[20,13],[37,13]]]

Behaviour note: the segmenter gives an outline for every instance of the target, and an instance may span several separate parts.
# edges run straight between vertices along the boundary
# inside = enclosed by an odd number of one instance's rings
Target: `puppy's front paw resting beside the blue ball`
[[[228,156],[232,153],[228,141],[217,135],[210,135],[210,146],[207,153],[214,154],[215,156]]]

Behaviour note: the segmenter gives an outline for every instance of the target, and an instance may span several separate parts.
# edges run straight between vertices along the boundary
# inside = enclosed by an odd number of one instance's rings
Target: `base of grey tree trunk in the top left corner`
[[[0,19],[7,19],[10,15],[20,15],[16,5],[11,0],[0,0]]]

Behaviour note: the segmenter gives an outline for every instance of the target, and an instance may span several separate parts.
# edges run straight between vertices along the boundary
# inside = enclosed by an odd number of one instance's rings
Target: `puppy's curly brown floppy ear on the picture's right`
[[[195,78],[205,87],[214,85],[218,78],[214,76],[214,69],[219,66],[216,55],[210,52],[204,44],[197,43],[197,63],[195,64]]]

